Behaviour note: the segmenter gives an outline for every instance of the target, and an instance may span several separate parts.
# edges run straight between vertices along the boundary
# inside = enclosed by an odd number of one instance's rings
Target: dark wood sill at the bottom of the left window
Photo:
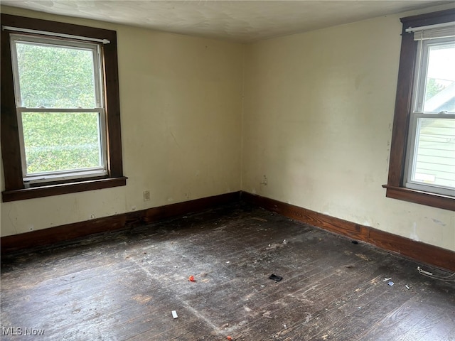
[[[36,197],[50,197],[51,195],[62,195],[69,193],[85,192],[87,190],[100,190],[127,184],[127,177],[107,178],[97,180],[85,180],[77,183],[62,183],[58,185],[43,185],[20,190],[5,190],[2,194],[3,202],[27,200]]]

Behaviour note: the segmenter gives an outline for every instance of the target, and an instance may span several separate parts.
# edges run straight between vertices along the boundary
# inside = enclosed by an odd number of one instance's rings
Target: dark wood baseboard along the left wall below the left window
[[[203,197],[196,200],[153,207],[146,210],[126,212],[110,217],[101,217],[85,222],[75,222],[48,229],[38,229],[32,232],[14,234],[13,236],[1,237],[1,254],[65,242],[90,234],[112,232],[136,227],[141,224],[150,224],[151,222],[186,215],[191,212],[198,212],[211,207],[238,202],[239,200],[240,192],[226,193],[213,197]]]

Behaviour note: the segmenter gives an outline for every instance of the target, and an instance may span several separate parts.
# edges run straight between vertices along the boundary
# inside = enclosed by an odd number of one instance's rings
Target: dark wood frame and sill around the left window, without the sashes
[[[127,178],[124,177],[122,169],[117,33],[102,28],[11,16],[4,13],[1,14],[1,25],[33,31],[110,40],[110,43],[105,45],[103,53],[108,174],[97,178],[37,184],[26,188],[23,182],[21,166],[20,137],[11,65],[10,32],[4,29],[1,30],[1,154],[5,184],[5,190],[2,193],[3,201],[26,200],[34,197],[126,185]]]

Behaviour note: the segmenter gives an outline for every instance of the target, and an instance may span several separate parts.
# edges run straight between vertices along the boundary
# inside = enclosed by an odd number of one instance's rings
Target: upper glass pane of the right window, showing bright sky
[[[430,45],[424,112],[455,112],[455,43]]]

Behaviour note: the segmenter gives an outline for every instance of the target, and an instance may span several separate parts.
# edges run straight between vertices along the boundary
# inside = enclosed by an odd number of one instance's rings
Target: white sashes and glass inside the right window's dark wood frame
[[[405,187],[455,196],[455,38],[419,40]]]

